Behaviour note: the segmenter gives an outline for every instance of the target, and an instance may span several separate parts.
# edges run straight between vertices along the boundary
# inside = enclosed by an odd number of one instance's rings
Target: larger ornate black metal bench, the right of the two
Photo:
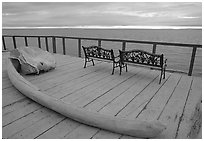
[[[129,50],[129,51],[121,51],[120,52],[120,75],[122,72],[122,68],[127,64],[138,64],[144,66],[150,66],[151,68],[159,68],[161,70],[159,84],[161,83],[161,78],[163,75],[163,79],[165,79],[165,70],[166,70],[166,61],[164,60],[163,54],[152,54],[143,50]]]

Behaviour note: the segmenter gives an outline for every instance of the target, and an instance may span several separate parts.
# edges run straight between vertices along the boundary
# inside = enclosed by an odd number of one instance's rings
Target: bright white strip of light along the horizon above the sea
[[[2,27],[2,29],[202,29],[202,26],[59,26],[59,27]]]

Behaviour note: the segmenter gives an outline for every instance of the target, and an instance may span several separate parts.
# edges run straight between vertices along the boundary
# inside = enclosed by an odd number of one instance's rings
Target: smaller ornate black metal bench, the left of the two
[[[111,61],[113,63],[112,74],[114,74],[114,70],[116,67],[119,67],[119,56],[114,56],[114,52],[112,49],[104,49],[100,46],[82,46],[85,55],[85,64],[84,68],[86,68],[87,62],[92,62],[94,66],[94,59],[103,60],[103,61]]]

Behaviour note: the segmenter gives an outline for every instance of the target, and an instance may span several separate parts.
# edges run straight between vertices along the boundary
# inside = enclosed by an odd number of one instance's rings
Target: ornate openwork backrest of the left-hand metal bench
[[[99,59],[114,60],[114,53],[112,49],[104,49],[98,46],[82,46],[82,48],[86,58],[94,57]]]

